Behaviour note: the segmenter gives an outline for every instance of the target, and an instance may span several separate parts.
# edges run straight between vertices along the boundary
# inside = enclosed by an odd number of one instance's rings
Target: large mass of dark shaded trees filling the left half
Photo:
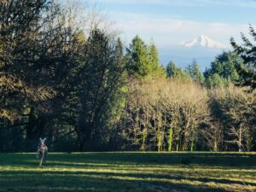
[[[85,38],[76,9],[50,1],[4,1],[0,12],[0,137],[12,143],[0,150],[32,151],[38,137],[53,149],[108,141],[124,98],[121,42],[96,28]]]

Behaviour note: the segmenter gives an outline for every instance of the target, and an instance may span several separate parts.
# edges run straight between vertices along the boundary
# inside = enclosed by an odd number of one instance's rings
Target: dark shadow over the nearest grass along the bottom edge
[[[193,177],[169,176],[165,177],[170,179],[168,182],[157,181],[161,177],[99,172],[0,172],[0,191],[229,191],[205,184],[176,183],[180,179],[199,181]]]

